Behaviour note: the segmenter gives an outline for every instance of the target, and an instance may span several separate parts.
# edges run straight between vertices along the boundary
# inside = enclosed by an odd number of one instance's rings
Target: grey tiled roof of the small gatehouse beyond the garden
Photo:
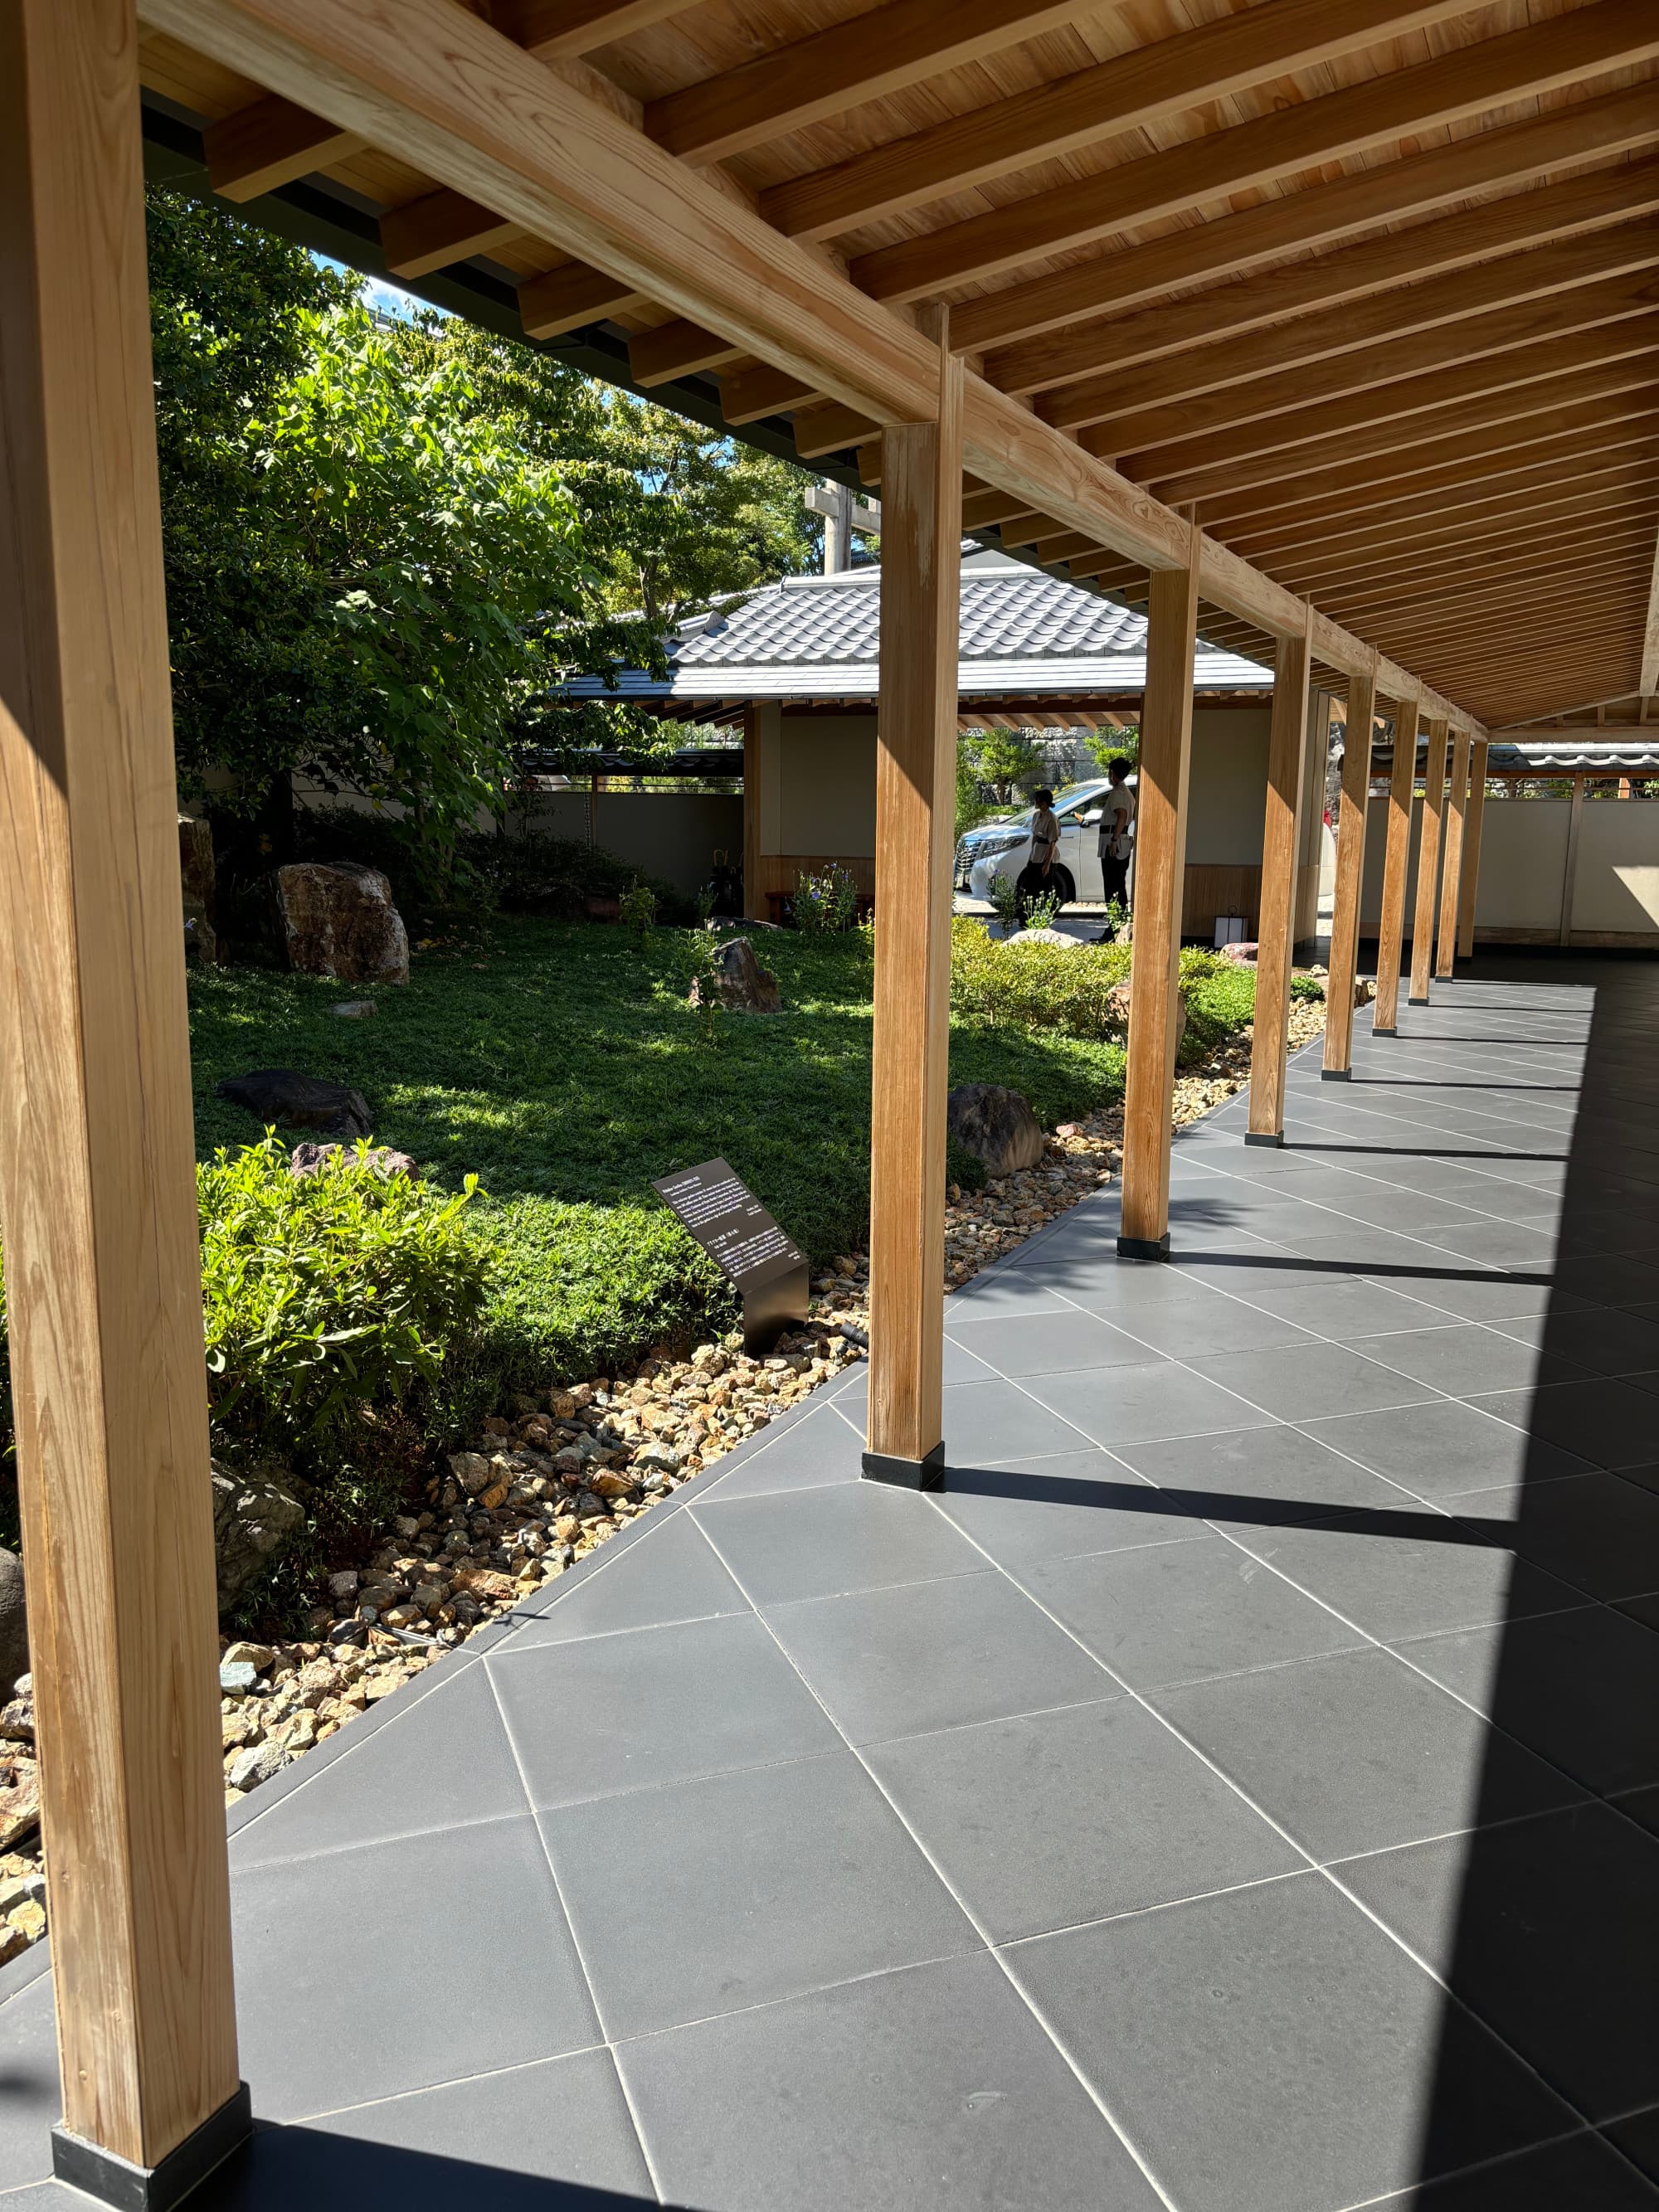
[[[670,644],[672,677],[624,670],[615,690],[593,679],[584,697],[626,699],[858,699],[876,695],[880,568],[792,575],[688,622]],[[962,566],[960,690],[1139,690],[1146,615],[1020,562]],[[1270,690],[1272,670],[1199,641],[1199,690]]]

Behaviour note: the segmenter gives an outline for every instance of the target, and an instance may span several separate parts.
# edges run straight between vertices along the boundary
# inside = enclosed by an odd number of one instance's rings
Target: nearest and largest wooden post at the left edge
[[[0,1210],[55,2163],[119,2203],[133,2168],[173,2201],[248,2130],[142,179],[133,0],[11,0]]]

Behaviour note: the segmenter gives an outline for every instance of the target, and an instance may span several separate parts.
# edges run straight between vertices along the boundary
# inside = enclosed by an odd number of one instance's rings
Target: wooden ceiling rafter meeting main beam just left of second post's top
[[[1164,146],[1139,161],[1068,177],[942,230],[878,246],[858,254],[849,274],[874,299],[927,299],[1655,55],[1659,27],[1648,0],[1595,0],[1573,15],[1458,46],[1413,69],[1367,77],[1230,131]]]

